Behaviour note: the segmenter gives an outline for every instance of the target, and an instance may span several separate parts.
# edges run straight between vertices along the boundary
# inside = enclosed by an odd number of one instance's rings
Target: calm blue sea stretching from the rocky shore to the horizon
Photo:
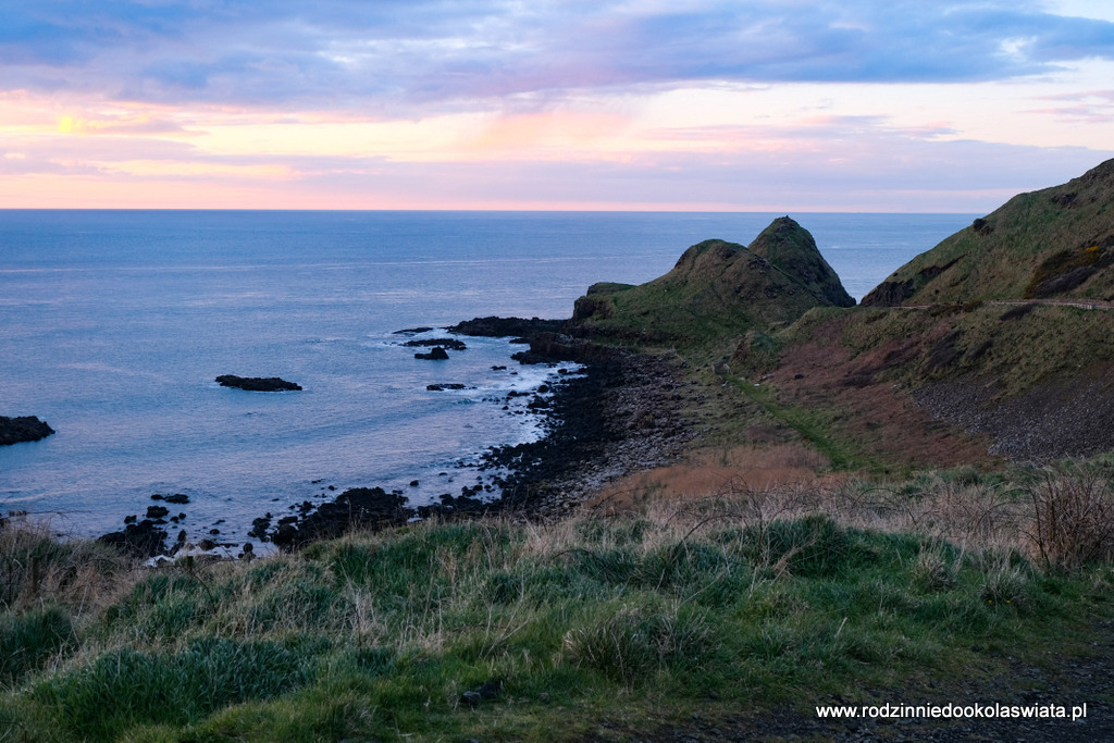
[[[416,361],[393,331],[565,317],[593,282],[648,281],[775,216],[0,212],[0,414],[58,431],[0,448],[0,509],[100,534],[182,492],[192,536],[223,520],[222,538],[243,539],[329,486],[459,492],[476,476],[457,465],[538,436],[502,407],[554,370],[508,363],[515,349],[490,339]],[[975,215],[792,216],[858,299]],[[305,389],[219,388],[224,373]]]

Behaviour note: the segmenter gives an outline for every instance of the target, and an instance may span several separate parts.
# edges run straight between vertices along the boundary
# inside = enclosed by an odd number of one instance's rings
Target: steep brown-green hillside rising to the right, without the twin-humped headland
[[[1020,194],[854,312],[811,311],[768,343],[772,354],[736,352],[733,371],[765,378],[771,404],[819,411],[827,436],[874,461],[1114,450],[1112,207],[1114,160]]]

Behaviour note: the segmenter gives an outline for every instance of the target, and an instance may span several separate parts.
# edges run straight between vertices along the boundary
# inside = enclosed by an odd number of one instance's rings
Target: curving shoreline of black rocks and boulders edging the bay
[[[673,459],[694,436],[681,416],[681,362],[575,339],[559,332],[563,324],[536,317],[478,317],[446,329],[453,335],[514,338],[528,345],[512,356],[521,364],[566,364],[557,380],[537,393],[511,393],[532,395],[528,407],[544,416],[545,433],[536,441],[486,451],[475,465],[480,473],[477,485],[466,486],[458,496],[443,493],[439,504],[429,506],[408,505],[399,490],[351,488],[325,502],[295,504],[285,516],[261,516],[248,536],[291,550],[353,527],[399,526],[413,518],[497,512],[520,519],[553,518],[613,479]],[[576,373],[566,372],[568,362],[579,365]],[[480,485],[483,478],[487,485]],[[496,491],[501,497],[482,497]],[[173,526],[159,516],[165,517],[158,512],[148,512],[141,520],[129,517],[123,530],[106,534],[99,541],[145,559],[174,556],[190,547],[203,551],[206,547],[238,548],[240,557],[254,551],[252,542],[201,540],[190,545],[184,531],[174,540],[167,531]]]

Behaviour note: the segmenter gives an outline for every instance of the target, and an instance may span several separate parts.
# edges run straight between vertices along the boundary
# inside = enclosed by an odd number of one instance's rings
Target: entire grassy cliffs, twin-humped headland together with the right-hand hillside
[[[735,389],[686,407],[696,447],[772,436],[879,471],[1092,457],[1114,450],[1111,207],[1114,160],[1009,199],[859,307],[782,217],[645,284],[594,284],[565,331],[670,349]]]

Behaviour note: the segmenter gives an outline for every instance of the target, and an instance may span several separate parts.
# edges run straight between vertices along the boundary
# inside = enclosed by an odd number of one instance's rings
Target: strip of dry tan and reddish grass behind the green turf
[[[965,551],[1015,551],[1046,568],[1072,570],[1114,557],[1114,491],[1084,466],[1046,468],[1036,477],[1018,471],[1014,479],[957,470],[874,483],[818,477],[804,466],[803,447],[768,451],[765,460],[741,448],[704,468],[690,462],[627,478],[585,511],[638,515],[682,530],[711,522],[761,527],[819,514],[842,526],[922,535]]]

